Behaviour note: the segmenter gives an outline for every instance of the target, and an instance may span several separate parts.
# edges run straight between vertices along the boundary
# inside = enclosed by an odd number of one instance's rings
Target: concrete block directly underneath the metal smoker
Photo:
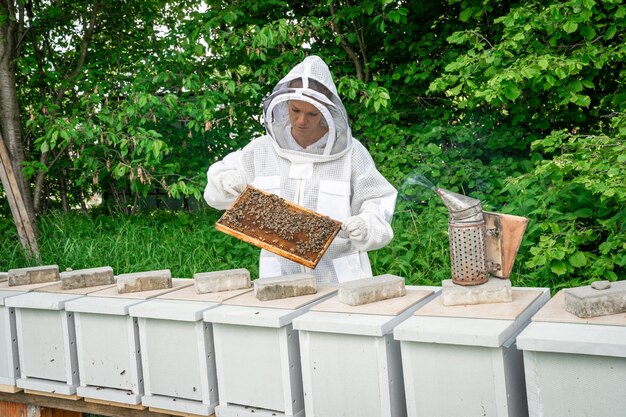
[[[513,301],[513,289],[508,279],[489,278],[480,285],[457,285],[451,279],[441,282],[443,305],[469,305],[510,303]]]

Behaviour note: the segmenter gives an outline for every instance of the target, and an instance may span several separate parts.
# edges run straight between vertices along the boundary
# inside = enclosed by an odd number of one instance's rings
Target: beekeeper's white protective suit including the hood
[[[301,82],[292,85],[301,87],[289,87],[295,79]],[[311,89],[309,79],[324,85],[330,98]],[[308,148],[298,149],[291,136],[288,100],[316,106],[328,124],[328,134]],[[378,172],[365,147],[352,137],[346,110],[324,61],[309,56],[295,66],[265,100],[263,116],[265,136],[209,168],[204,191],[207,203],[219,210],[232,205],[236,196],[224,190],[222,181],[229,176],[340,222],[358,216],[367,226],[365,239],[350,240],[340,232],[314,270],[262,250],[259,276],[309,272],[320,283],[371,277],[367,251],[380,249],[393,238],[390,222],[397,191]]]

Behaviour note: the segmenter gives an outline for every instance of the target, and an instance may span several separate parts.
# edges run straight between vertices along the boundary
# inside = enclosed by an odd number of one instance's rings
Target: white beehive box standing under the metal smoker
[[[435,298],[394,330],[411,417],[525,417],[524,369],[515,337],[550,298],[513,288],[513,301],[444,306]]]

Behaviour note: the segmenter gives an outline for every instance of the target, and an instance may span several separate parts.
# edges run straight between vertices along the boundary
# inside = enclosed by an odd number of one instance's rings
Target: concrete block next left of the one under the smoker
[[[358,306],[405,294],[404,278],[385,274],[339,284],[337,299],[344,304]]]

